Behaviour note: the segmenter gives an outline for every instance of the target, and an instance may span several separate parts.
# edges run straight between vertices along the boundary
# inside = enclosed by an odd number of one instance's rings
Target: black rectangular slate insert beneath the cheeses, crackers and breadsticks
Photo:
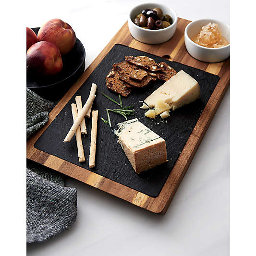
[[[100,117],[107,119],[106,108],[118,108],[118,105],[101,95],[101,92],[104,92],[118,101],[118,95],[109,91],[105,85],[106,75],[111,70],[113,63],[124,61],[124,56],[130,55],[145,55],[153,58],[156,62],[164,61],[177,72],[183,69],[198,81],[201,89],[201,97],[198,100],[178,110],[171,111],[171,117],[164,121],[160,117],[157,117],[155,120],[146,118],[144,117],[145,110],[140,109],[142,105],[140,101],[143,101],[155,89],[162,85],[162,81],[156,81],[146,88],[134,90],[128,98],[122,97],[123,106],[134,105],[135,116],[129,117],[128,119],[137,118],[149,129],[166,140],[167,159],[169,161],[141,174],[134,172],[129,160],[117,142],[117,137],[112,132],[111,128],[100,119]],[[38,138],[34,146],[39,150],[98,173],[117,183],[121,183],[146,195],[156,197],[159,195],[175,162],[179,158],[186,141],[218,82],[218,75],[207,73],[174,61],[166,61],[158,56],[116,44],[98,64],[97,68],[91,73],[85,83],[73,95],[68,104],[61,110],[53,122],[51,122],[45,132]],[[88,166],[91,118],[85,119],[88,134],[82,138],[86,158],[85,163],[78,162],[75,136],[73,136],[71,142],[63,143],[63,139],[73,124],[71,103],[75,103],[75,96],[81,95],[84,104],[88,98],[92,83],[98,85],[97,97],[92,110],[99,111],[96,166],[93,169]],[[124,121],[122,116],[115,113],[110,113],[110,118],[113,126],[116,123]]]

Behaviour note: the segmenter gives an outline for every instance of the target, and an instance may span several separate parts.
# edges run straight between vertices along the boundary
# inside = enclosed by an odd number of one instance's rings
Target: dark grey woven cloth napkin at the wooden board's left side
[[[27,138],[48,121],[54,103],[27,89]],[[27,243],[42,242],[70,226],[77,215],[76,188],[64,175],[27,160]]]

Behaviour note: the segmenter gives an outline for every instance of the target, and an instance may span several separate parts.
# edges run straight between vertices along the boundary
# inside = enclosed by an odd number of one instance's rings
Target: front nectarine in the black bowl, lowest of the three
[[[27,50],[27,72],[39,76],[61,72],[61,52],[50,42],[37,42]]]

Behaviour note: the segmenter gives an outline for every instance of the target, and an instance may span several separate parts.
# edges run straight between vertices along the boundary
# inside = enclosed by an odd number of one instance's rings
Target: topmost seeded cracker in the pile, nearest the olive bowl
[[[125,56],[125,61],[128,61],[139,68],[143,68],[149,71],[160,71],[161,68],[153,59],[148,58],[146,56]]]

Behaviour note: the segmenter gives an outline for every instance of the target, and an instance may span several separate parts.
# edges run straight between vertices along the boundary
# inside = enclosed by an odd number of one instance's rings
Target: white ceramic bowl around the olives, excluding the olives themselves
[[[171,16],[173,21],[171,26],[158,30],[150,30],[146,28],[141,28],[134,24],[133,20],[136,15],[141,13],[144,9],[153,9],[155,7],[161,8],[163,14],[169,14]],[[128,16],[128,26],[131,35],[136,40],[146,44],[161,44],[171,39],[176,31],[177,21],[177,13],[170,7],[159,3],[143,3],[137,5],[131,10]]]

